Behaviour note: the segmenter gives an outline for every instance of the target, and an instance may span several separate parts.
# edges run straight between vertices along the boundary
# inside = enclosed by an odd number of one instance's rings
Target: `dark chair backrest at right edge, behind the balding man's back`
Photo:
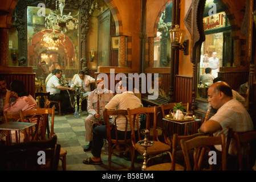
[[[234,132],[234,138],[237,142],[239,170],[251,170],[256,159],[256,131]],[[243,159],[246,159],[246,165]]]

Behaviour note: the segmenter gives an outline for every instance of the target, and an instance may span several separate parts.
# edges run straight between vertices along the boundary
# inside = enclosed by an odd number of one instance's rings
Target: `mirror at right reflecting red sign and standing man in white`
[[[242,36],[239,38],[239,35],[235,35],[238,33],[231,28],[233,26],[234,29],[235,20],[230,22],[227,15],[229,12],[224,11],[225,7],[221,5],[207,0],[202,20],[205,41],[202,42],[198,63],[197,98],[206,101],[208,87],[213,84],[214,78],[223,77],[232,89],[238,91],[239,85],[246,82],[246,75],[249,73],[246,61],[241,57]],[[236,78],[237,82],[234,81]]]

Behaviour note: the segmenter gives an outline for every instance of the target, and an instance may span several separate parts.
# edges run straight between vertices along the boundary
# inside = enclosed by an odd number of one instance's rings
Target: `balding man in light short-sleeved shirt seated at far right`
[[[216,82],[211,85],[208,89],[208,96],[210,105],[218,111],[212,118],[202,123],[198,132],[213,134],[214,137],[225,134],[227,137],[229,128],[237,132],[251,131],[254,129],[249,113],[240,102],[233,99],[232,90],[225,82]],[[217,152],[221,151],[221,146],[214,147]],[[231,139],[228,154],[227,167],[230,169],[230,167],[234,166],[231,163],[233,162],[232,156],[237,155],[237,147],[233,139]]]

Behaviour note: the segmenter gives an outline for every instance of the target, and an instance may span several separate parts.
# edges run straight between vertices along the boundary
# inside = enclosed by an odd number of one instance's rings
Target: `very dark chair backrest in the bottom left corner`
[[[56,144],[56,142],[57,137],[53,135],[51,139],[46,141],[0,146],[0,170],[56,171],[58,169],[60,154],[60,145]]]

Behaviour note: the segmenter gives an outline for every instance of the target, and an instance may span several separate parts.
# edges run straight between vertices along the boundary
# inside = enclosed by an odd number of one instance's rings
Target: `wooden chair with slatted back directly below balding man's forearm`
[[[225,146],[225,135],[222,134],[220,137],[206,137],[200,136],[190,140],[185,141],[181,140],[181,148],[184,154],[184,159],[186,163],[187,171],[200,171],[205,170],[205,167],[202,165],[204,162],[204,155],[208,155],[211,149],[210,146],[218,145],[222,146],[222,171],[226,171],[226,146]],[[189,150],[194,148],[193,160],[194,167],[192,168],[189,158]],[[207,160],[208,164],[209,161]],[[206,169],[208,170],[208,169]],[[213,170],[213,165],[209,164],[209,170]]]

